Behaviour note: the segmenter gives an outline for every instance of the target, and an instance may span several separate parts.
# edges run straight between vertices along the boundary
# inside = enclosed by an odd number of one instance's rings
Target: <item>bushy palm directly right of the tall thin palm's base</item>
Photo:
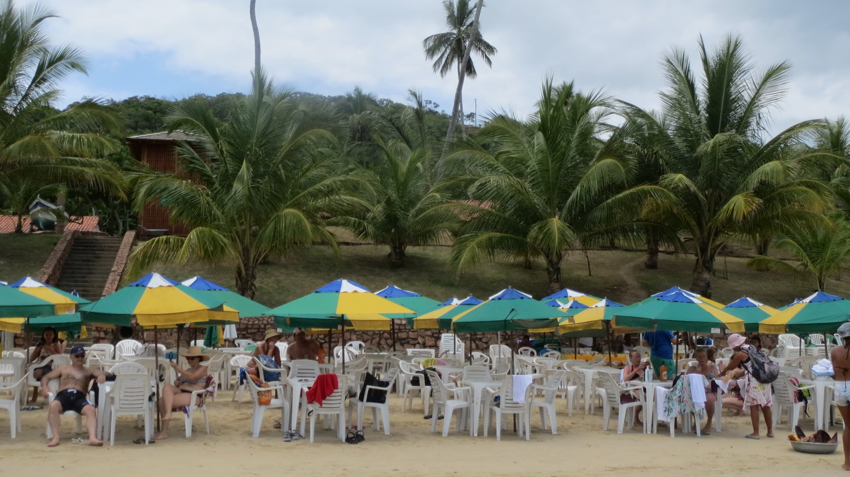
[[[658,186],[626,186],[635,173],[632,131],[606,124],[611,105],[605,94],[554,87],[550,78],[530,122],[492,117],[478,134],[486,148],[467,141],[452,155],[467,162],[476,178],[469,196],[478,201],[452,248],[459,271],[498,256],[541,257],[558,290],[564,255],[611,238],[634,241],[638,207],[672,202]]]

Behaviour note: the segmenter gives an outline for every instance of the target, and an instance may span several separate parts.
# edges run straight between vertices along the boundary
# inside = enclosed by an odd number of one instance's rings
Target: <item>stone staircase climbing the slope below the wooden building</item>
[[[66,292],[77,290],[88,300],[100,299],[121,242],[120,236],[77,236],[55,286]]]

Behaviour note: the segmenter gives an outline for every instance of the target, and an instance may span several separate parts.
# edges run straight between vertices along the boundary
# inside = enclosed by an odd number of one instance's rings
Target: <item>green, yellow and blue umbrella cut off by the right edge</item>
[[[850,300],[825,292],[814,292],[762,320],[758,331],[771,334],[835,332],[848,319]]]

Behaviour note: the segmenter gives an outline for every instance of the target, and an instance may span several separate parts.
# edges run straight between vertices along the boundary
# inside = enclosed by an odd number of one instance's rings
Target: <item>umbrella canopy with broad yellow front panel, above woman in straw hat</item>
[[[136,318],[142,327],[173,327],[208,321],[224,310],[224,300],[180,285],[158,273],[145,275],[117,292],[83,306],[82,319],[127,327]]]

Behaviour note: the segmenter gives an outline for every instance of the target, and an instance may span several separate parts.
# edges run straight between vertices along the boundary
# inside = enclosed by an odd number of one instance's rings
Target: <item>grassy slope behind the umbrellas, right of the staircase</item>
[[[529,292],[535,298],[549,294],[546,270],[541,262],[533,264],[532,270],[524,269],[521,263],[482,264],[458,277],[449,264],[449,252],[448,247],[411,247],[407,268],[390,270],[386,247],[343,247],[342,258],[334,257],[325,247],[311,247],[292,258],[260,267],[256,298],[262,304],[277,306],[337,278],[357,281],[373,291],[395,285],[437,300],[465,297],[469,293],[485,299],[505,287]],[[674,285],[688,288],[694,265],[691,256],[662,255],[658,270],[646,270],[643,253],[616,250],[592,251],[589,258],[590,276],[583,254],[576,253],[564,260],[564,287],[623,304],[631,304]],[[749,270],[745,261],[745,258],[718,258],[713,298],[729,303],[746,295],[772,306],[781,306],[812,292],[808,282]],[[160,271],[179,280],[201,275],[224,287],[233,287],[233,270],[231,266],[161,264],[150,271]],[[130,281],[137,277],[124,278]],[[832,280],[826,291],[850,298],[850,282]]]

